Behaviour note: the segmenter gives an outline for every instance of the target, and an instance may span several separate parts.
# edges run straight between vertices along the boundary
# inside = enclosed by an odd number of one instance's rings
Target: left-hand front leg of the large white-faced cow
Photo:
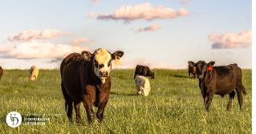
[[[91,101],[90,95],[83,95],[83,105],[87,113],[87,120],[89,124],[93,124],[95,120],[95,113],[93,111],[93,103]]]

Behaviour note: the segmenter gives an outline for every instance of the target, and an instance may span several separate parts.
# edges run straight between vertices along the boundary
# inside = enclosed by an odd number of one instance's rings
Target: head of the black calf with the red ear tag
[[[203,79],[206,75],[206,72],[209,70],[209,66],[214,65],[214,61],[205,63],[205,61],[198,61],[197,63],[189,62],[190,67],[197,67],[197,79]]]

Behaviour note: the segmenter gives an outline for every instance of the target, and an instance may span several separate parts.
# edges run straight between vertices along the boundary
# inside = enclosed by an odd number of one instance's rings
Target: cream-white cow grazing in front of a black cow
[[[147,96],[151,89],[149,80],[146,77],[139,75],[136,78],[135,82],[136,82],[137,94],[138,95],[142,94],[144,96]]]

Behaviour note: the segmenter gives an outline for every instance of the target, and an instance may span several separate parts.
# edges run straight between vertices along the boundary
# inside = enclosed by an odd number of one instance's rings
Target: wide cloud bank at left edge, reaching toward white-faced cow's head
[[[3,59],[51,59],[65,58],[67,55],[88,51],[88,47],[63,44],[36,43],[35,41],[20,43],[17,46],[0,47],[0,58]]]

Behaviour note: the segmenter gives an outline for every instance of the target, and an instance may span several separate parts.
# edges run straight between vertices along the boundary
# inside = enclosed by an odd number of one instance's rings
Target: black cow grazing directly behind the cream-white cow
[[[151,79],[155,79],[155,74],[150,71],[149,67],[137,65],[134,79],[136,78],[136,75],[143,75],[143,76],[150,76]]]

